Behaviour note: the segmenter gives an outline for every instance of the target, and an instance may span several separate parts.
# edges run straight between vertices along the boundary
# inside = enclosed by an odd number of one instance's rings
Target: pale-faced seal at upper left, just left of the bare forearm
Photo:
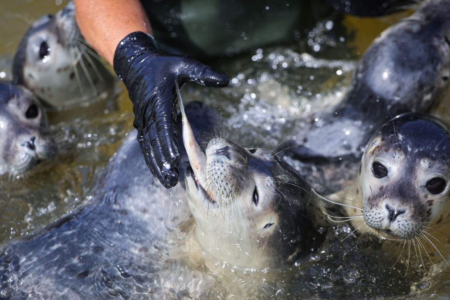
[[[73,2],[33,23],[14,56],[12,73],[14,83],[54,109],[87,105],[106,97],[114,85],[114,77],[81,36]]]

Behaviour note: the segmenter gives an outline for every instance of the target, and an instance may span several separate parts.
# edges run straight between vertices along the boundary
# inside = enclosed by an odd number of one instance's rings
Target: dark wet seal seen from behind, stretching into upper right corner
[[[439,103],[450,76],[449,13],[449,0],[428,0],[388,27],[360,59],[341,102],[316,113],[282,146],[314,188],[337,192],[351,181],[343,170],[359,163],[379,126]]]

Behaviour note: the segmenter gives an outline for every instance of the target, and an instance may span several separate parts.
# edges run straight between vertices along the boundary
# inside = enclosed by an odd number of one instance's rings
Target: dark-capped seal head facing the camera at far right
[[[406,113],[370,139],[350,187],[325,198],[344,205],[362,232],[434,246],[434,226],[450,216],[449,161],[450,126]]]

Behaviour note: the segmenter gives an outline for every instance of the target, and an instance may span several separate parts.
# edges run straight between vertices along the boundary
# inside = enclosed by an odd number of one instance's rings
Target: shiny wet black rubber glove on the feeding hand
[[[147,166],[166,188],[178,182],[180,149],[175,133],[176,92],[186,81],[223,87],[228,77],[189,56],[163,54],[153,37],[136,31],[114,53],[114,71],[133,102],[134,126]]]

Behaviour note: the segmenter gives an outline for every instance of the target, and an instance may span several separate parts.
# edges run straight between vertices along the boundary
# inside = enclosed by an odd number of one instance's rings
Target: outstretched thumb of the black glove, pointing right
[[[184,58],[184,66],[179,69],[180,81],[191,81],[212,87],[224,87],[229,83],[228,76],[214,71],[210,66],[193,58]]]

